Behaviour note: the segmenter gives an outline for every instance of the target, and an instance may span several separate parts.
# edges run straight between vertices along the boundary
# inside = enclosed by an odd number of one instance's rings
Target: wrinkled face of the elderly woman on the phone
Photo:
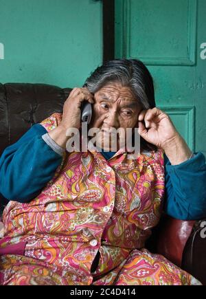
[[[101,144],[100,147],[104,149],[111,150],[111,138],[114,136],[111,131],[122,128],[126,133],[126,128],[135,128],[140,111],[141,107],[128,87],[122,87],[119,82],[108,83],[94,95],[93,115],[89,129],[99,128],[100,133],[96,136],[98,144]],[[122,142],[123,137],[121,133],[117,137],[117,150],[119,141]],[[106,138],[110,140],[109,146],[105,146]]]

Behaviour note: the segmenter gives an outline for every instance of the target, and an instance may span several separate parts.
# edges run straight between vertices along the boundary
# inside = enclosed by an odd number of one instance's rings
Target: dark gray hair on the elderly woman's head
[[[91,93],[97,92],[109,82],[119,82],[129,87],[142,109],[155,107],[155,92],[152,76],[140,60],[115,59],[104,63],[91,73],[84,82]]]

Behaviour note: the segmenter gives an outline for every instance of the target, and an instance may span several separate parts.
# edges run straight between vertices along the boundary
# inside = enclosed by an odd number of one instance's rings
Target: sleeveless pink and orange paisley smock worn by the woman
[[[41,124],[51,131],[54,113]],[[10,201],[0,248],[25,242],[23,256],[1,256],[3,285],[188,284],[192,276],[142,250],[161,216],[163,153],[127,159],[119,150],[67,153],[54,178],[30,203]],[[100,252],[95,272],[91,265]]]

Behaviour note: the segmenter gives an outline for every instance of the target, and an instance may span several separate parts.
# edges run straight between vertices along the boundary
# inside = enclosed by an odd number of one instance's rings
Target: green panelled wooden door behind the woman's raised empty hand
[[[206,156],[206,0],[115,0],[115,57],[139,58],[192,151]]]

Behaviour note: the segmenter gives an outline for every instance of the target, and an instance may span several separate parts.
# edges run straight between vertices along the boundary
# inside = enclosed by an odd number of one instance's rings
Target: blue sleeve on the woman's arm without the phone
[[[206,165],[202,153],[179,165],[171,165],[165,156],[164,210],[176,219],[206,217]]]

